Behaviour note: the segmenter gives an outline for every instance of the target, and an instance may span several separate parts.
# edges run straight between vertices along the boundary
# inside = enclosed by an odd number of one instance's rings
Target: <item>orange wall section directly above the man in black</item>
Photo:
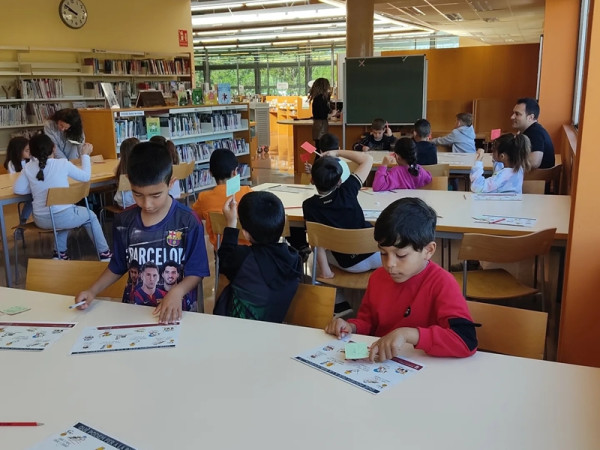
[[[540,123],[558,151],[563,124],[571,123],[579,30],[579,0],[546,0],[540,76]]]

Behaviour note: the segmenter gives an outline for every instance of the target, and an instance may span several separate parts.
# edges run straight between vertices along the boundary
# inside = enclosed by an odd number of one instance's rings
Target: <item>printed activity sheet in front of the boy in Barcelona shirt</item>
[[[158,323],[86,327],[71,354],[175,347],[180,327]]]

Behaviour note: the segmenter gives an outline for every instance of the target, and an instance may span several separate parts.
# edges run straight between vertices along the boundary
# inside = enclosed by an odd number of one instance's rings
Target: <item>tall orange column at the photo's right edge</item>
[[[558,340],[561,362],[600,367],[600,2],[590,7],[583,105],[573,165],[571,230]],[[556,61],[555,66],[560,66]]]

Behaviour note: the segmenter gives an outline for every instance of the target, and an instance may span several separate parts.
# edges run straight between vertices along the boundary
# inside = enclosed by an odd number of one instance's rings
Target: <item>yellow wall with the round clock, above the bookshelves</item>
[[[190,0],[84,0],[88,21],[64,25],[59,0],[0,0],[0,45],[97,48],[144,52],[193,52]],[[177,30],[188,31],[179,47]]]

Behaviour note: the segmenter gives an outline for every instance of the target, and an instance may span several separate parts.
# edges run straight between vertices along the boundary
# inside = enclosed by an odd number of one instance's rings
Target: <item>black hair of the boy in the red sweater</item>
[[[405,197],[385,208],[375,222],[374,237],[381,247],[412,248],[420,252],[435,240],[435,210],[420,198]]]

